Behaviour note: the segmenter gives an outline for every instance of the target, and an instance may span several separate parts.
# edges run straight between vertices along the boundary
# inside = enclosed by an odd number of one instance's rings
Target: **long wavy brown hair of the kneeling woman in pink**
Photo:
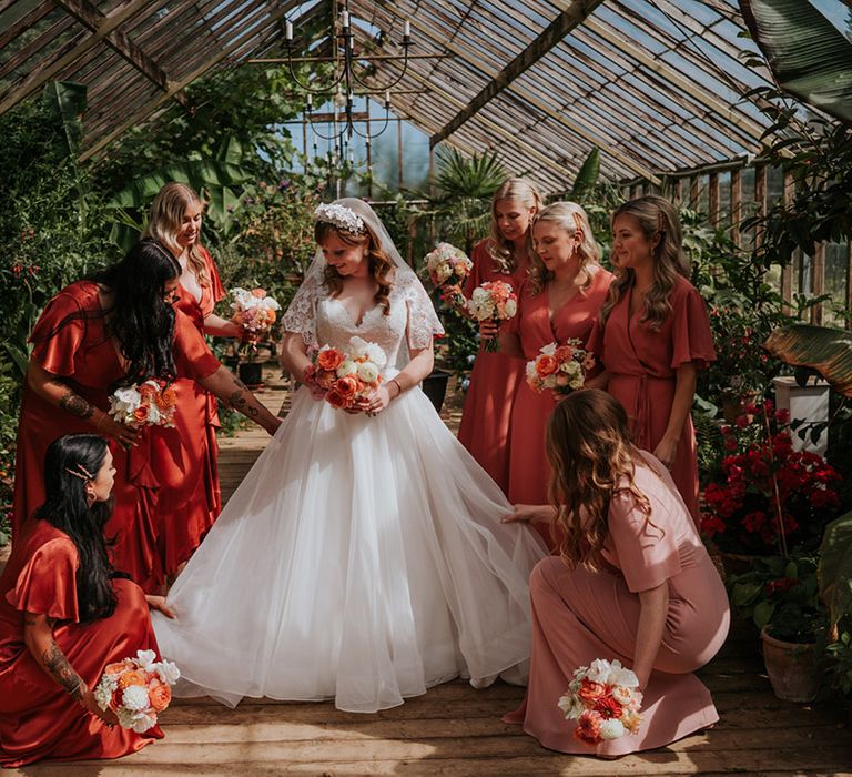
[[[633,481],[633,456],[627,413],[605,391],[576,391],[556,405],[547,424],[549,498],[565,532],[559,553],[569,568],[601,568],[609,505],[621,492],[630,492],[646,521],[659,529],[648,497]]]

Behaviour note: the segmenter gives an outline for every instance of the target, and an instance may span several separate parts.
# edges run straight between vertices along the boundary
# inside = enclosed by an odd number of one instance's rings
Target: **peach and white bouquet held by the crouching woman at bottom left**
[[[109,664],[94,688],[101,709],[112,709],[122,728],[143,734],[156,726],[156,716],[172,700],[172,688],[181,676],[168,660],[154,660],[153,650],[138,650],[135,658]]]

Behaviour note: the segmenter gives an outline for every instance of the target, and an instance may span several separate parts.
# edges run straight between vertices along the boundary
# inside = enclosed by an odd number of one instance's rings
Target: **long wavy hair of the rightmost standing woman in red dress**
[[[653,283],[645,295],[645,313],[641,321],[648,322],[653,330],[659,330],[671,313],[671,292],[678,275],[689,279],[689,261],[683,253],[682,231],[678,212],[665,198],[647,194],[620,205],[612,213],[612,224],[619,215],[631,215],[639,222],[645,239],[653,244]],[[615,262],[616,280],[609,287],[607,301],[600,309],[600,322],[606,325],[609,314],[618,301],[636,282],[636,273],[630,268],[619,268]]]

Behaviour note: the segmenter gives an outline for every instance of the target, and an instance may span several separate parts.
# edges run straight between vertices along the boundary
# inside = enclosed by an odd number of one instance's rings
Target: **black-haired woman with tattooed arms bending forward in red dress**
[[[112,441],[115,511],[106,533],[115,537],[115,568],[146,591],[162,586],[156,490],[150,463],[150,427],[132,428],[108,413],[110,394],[149,377],[199,381],[274,433],[281,420],[213,356],[192,322],[172,303],[180,265],[159,243],[142,241],[119,263],[54,296],[30,337],[16,461],[13,538],[44,502],[41,462],[62,434],[98,432]]]

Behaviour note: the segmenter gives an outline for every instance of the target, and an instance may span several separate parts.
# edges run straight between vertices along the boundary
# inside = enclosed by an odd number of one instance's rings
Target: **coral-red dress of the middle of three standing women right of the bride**
[[[607,299],[612,273],[598,268],[588,289],[577,294],[550,315],[547,286],[532,294],[527,281],[521,286],[518,315],[513,331],[520,340],[526,361],[534,360],[541,347],[549,343],[562,344],[567,340],[589,339],[600,307]],[[526,364],[525,364],[526,369]],[[591,375],[596,371],[592,371]],[[590,375],[590,376],[591,376]],[[509,502],[513,504],[547,504],[550,464],[547,461],[545,435],[547,421],[556,407],[556,395],[550,391],[540,394],[523,380],[515,395],[509,424]],[[534,524],[548,547],[557,542],[547,524]]]

